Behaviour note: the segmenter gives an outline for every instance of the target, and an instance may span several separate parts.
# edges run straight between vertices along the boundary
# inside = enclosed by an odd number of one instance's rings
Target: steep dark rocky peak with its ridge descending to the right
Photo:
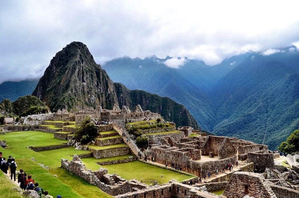
[[[135,92],[139,94],[134,95]],[[195,119],[183,105],[169,98],[142,91],[129,91],[122,85],[116,86],[106,71],[94,62],[88,48],[81,42],[72,42],[53,57],[33,95],[53,111],[62,107],[79,109],[98,105],[112,109],[114,103],[120,107],[128,104],[133,108],[140,104],[144,110],[161,113],[166,120],[173,120],[178,126],[191,124],[198,128]],[[120,100],[125,102],[119,103]],[[174,118],[176,115],[173,113],[179,113],[180,116]]]

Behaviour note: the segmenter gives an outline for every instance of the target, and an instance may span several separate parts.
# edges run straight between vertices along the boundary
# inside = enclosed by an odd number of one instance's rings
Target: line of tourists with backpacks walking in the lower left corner
[[[6,161],[6,158],[3,157],[2,152],[0,152],[0,162],[0,169],[5,174],[7,174],[8,171],[10,174],[10,179],[16,181],[16,168],[18,167],[18,165],[16,163],[15,157],[8,156],[8,159]],[[39,198],[53,198],[51,195],[49,195],[48,191],[44,191],[42,188],[39,187],[38,182],[34,182],[30,174],[27,176],[23,169],[20,169],[20,173],[18,174],[18,184],[20,185],[20,188],[22,188],[23,190],[35,190],[39,195]],[[61,195],[57,195],[57,198],[62,197]]]

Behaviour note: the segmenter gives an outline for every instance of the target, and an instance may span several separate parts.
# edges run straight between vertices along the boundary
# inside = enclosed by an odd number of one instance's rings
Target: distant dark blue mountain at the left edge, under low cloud
[[[38,79],[22,80],[19,82],[6,81],[0,84],[0,101],[5,98],[10,101],[15,101],[21,96],[30,95],[35,89]]]

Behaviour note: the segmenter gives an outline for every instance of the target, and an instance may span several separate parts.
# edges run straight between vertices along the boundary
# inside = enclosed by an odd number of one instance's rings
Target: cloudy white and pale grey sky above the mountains
[[[215,65],[249,50],[299,46],[299,1],[0,0],[0,83],[39,78],[72,41],[96,63],[188,57]],[[267,51],[268,50],[268,51]],[[182,66],[184,60],[167,62]]]

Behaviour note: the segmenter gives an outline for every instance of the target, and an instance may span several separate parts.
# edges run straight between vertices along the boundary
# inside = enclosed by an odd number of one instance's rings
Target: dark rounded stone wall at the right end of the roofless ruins
[[[273,153],[247,153],[247,158],[249,162],[254,162],[254,168],[257,170],[274,167]]]

